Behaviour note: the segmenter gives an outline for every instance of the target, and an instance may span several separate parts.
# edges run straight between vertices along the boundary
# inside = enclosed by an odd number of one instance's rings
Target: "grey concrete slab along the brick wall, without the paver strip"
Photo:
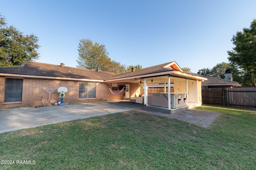
[[[0,109],[0,133],[84,119],[122,111],[142,109],[143,104],[124,101],[92,102],[79,105],[18,107]]]

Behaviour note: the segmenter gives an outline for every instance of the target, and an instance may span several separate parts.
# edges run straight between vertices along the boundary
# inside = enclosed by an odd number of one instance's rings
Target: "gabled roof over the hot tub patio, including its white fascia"
[[[128,79],[134,79],[134,78],[146,78],[151,76],[164,76],[164,75],[172,75],[172,76],[178,76],[182,78],[193,78],[197,80],[207,80],[207,78],[203,78],[200,75],[192,75],[188,74],[182,71],[180,66],[173,61],[171,63],[164,63],[159,64],[156,66],[151,66],[147,68],[142,68],[139,70],[131,71],[131,72],[125,72],[122,74],[116,74],[114,76],[111,76],[111,78],[105,79],[106,82],[111,81],[117,81],[117,80],[128,80]]]

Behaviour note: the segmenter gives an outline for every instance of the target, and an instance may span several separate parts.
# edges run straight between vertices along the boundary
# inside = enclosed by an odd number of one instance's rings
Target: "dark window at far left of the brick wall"
[[[6,78],[4,87],[4,103],[22,102],[23,79]]]

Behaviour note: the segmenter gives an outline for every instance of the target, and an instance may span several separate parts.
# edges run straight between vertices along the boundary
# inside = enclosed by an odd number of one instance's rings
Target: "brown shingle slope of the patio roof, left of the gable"
[[[112,79],[118,79],[118,78],[126,78],[126,77],[132,77],[132,76],[141,76],[145,74],[152,74],[152,73],[158,73],[158,72],[165,72],[165,71],[170,71],[173,69],[170,68],[163,68],[163,66],[166,66],[169,63],[164,63],[156,66],[151,66],[147,68],[142,68],[139,70],[135,70],[134,72],[125,72],[122,74],[116,74],[114,76],[111,76],[111,78],[107,78],[105,80],[112,80]]]

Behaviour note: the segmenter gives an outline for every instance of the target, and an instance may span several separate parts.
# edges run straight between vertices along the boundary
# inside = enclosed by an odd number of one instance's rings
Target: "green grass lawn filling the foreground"
[[[256,110],[196,109],[223,114],[208,128],[128,111],[2,133],[15,164],[0,169],[256,169]]]

